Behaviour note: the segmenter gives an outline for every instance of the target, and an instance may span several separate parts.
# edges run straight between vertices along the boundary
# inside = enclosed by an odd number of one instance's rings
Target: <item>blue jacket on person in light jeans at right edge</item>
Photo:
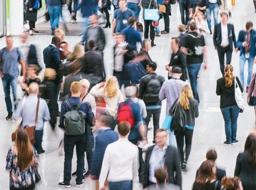
[[[244,33],[244,34],[243,34]],[[242,38],[242,34],[244,35]],[[237,47],[240,50],[240,56],[244,53],[244,47],[242,47],[243,42],[246,38],[246,32],[244,30],[240,30],[237,38]],[[251,49],[250,49],[250,57],[256,56],[256,31],[251,31]]]

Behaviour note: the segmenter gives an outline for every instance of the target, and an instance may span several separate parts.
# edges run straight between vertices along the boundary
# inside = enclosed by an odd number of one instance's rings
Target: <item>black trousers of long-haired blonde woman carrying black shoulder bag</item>
[[[190,154],[190,151],[191,151],[193,130],[185,128],[184,130],[180,131],[176,135],[177,150],[178,150],[178,155],[179,155],[181,164],[184,162],[184,150],[183,150],[183,148],[184,148],[184,137],[185,137],[185,144],[186,144],[185,161],[188,161],[188,157],[189,157],[189,154]]]

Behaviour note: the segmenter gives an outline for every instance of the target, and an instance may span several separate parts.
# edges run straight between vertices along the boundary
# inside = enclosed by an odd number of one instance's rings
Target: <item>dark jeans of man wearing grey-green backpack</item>
[[[76,184],[80,185],[83,180],[84,169],[84,147],[86,143],[86,135],[69,136],[64,135],[64,183],[70,185],[72,158],[74,148],[76,146]]]

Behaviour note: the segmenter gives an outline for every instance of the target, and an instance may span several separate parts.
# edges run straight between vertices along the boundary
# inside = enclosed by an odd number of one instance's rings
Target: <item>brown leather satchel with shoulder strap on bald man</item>
[[[25,100],[23,100],[25,101]],[[34,126],[26,126],[24,127],[24,130],[27,131],[27,134],[29,136],[29,140],[31,143],[35,143],[35,127],[37,126],[37,119],[38,119],[38,110],[39,110],[39,98],[37,99],[37,110],[36,110],[36,113],[35,113],[35,125]],[[20,122],[20,125],[18,127],[18,129],[12,133],[12,141],[15,141],[16,140],[16,137],[17,137],[17,132],[21,129],[21,123]]]

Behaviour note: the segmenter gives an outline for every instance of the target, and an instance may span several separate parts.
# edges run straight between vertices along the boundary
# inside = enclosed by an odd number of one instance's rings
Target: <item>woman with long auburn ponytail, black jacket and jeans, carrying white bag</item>
[[[235,88],[240,88],[243,92],[241,82],[238,77],[233,76],[233,66],[226,65],[225,74],[217,80],[216,94],[221,96],[220,107],[225,122],[226,146],[237,144],[237,118],[240,108],[237,106],[235,98]],[[235,86],[236,85],[236,86]]]

